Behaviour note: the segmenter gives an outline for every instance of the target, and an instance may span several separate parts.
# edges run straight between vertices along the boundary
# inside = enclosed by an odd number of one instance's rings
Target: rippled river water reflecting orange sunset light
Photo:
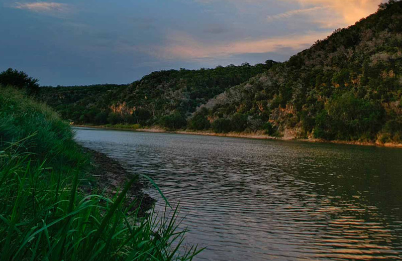
[[[76,139],[179,201],[187,242],[208,246],[197,260],[402,259],[401,149],[83,128]]]

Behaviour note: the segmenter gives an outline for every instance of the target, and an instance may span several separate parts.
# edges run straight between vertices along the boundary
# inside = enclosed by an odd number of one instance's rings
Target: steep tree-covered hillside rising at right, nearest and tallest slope
[[[402,2],[201,106],[192,128],[326,140],[402,141]]]

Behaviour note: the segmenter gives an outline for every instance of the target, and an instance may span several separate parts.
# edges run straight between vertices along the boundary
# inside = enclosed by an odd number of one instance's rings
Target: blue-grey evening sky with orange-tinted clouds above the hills
[[[56,0],[55,0],[56,1]],[[381,0],[0,0],[0,71],[41,85],[285,61]]]

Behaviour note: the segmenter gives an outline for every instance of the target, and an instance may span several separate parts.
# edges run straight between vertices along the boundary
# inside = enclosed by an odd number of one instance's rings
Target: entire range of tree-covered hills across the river
[[[129,85],[41,88],[75,123],[402,143],[402,2],[283,63],[154,72]]]

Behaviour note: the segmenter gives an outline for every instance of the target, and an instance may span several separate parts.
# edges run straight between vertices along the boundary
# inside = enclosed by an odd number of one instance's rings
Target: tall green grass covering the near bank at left
[[[91,194],[90,154],[49,107],[0,86],[0,260],[189,260],[175,215]]]

